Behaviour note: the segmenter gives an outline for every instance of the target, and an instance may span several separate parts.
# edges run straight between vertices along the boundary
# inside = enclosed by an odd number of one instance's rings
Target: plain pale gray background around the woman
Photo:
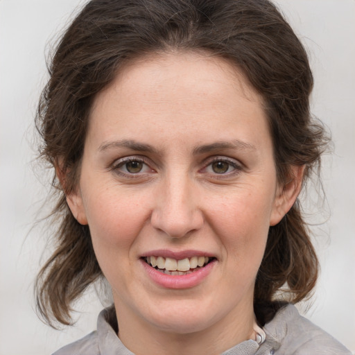
[[[49,188],[46,172],[33,167],[33,116],[46,81],[44,48],[78,3],[0,0],[0,355],[51,354],[95,329],[101,309],[96,296],[87,295],[76,327],[61,332],[33,311],[47,227],[31,227]],[[327,201],[308,210],[313,223],[324,223],[313,227],[322,274],[306,315],[355,351],[355,1],[278,3],[308,48],[313,113],[329,126],[335,144],[335,154],[324,159]]]

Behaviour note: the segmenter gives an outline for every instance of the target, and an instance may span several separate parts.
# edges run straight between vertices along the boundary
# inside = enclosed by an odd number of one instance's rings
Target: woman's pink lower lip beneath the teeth
[[[141,260],[141,263],[148,273],[148,276],[153,280],[153,282],[155,282],[155,284],[158,284],[164,288],[179,289],[192,288],[200,284],[211,272],[212,268],[216,264],[216,259],[209,262],[203,268],[193,271],[191,274],[187,275],[167,275],[163,272],[155,270],[155,268],[152,268],[152,266],[148,265],[148,263],[144,260]]]

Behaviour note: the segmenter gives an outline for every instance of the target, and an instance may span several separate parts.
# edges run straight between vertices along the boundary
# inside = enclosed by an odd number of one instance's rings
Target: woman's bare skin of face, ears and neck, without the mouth
[[[220,58],[143,58],[96,96],[80,183],[67,200],[89,225],[119,338],[132,352],[220,354],[253,336],[268,228],[302,180],[293,167],[280,187],[272,151],[261,97]],[[142,267],[149,250],[199,250],[216,262],[197,286],[165,288]]]

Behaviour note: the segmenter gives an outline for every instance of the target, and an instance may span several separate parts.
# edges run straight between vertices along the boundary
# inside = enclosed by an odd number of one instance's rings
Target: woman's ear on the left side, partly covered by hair
[[[78,223],[80,223],[80,225],[87,225],[87,217],[85,213],[83,197],[81,196],[80,192],[80,187],[75,187],[74,189],[72,189],[72,191],[67,192],[67,172],[60,167],[60,163],[55,164],[55,173],[57,175],[58,180],[60,181],[60,184],[62,185],[62,189],[67,198],[67,204],[74,218],[78,220]]]

